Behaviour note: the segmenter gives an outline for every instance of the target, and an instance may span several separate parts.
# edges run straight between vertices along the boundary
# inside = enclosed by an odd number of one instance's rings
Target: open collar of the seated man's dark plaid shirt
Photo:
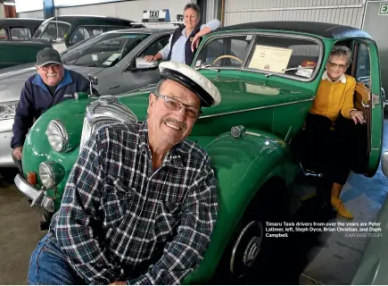
[[[146,121],[141,123],[140,125],[138,144],[140,153],[150,152],[149,154],[151,154],[151,149],[148,143],[148,124]],[[189,151],[190,150],[186,147],[185,141],[181,141],[169,150],[167,156],[163,158],[162,164],[173,165],[176,167],[184,167],[181,158],[181,153],[187,153]]]

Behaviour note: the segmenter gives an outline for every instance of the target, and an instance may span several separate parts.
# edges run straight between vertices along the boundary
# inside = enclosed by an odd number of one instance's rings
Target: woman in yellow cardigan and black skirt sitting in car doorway
[[[330,203],[346,218],[354,217],[339,198],[351,172],[349,122],[365,122],[364,114],[353,105],[356,80],[345,74],[350,63],[351,50],[346,46],[334,46],[306,118],[303,144],[304,162],[313,170],[326,172],[331,189]]]

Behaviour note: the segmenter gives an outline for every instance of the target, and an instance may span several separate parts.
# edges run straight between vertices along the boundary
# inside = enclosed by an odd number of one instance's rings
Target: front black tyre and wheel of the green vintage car
[[[266,223],[282,222],[288,214],[288,201],[283,181],[268,181],[259,190],[245,210],[211,283],[251,283],[274,247],[274,240],[266,238]]]

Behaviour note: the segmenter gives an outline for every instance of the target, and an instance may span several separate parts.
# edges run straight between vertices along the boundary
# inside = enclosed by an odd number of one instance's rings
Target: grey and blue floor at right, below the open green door
[[[388,120],[384,120],[383,151],[388,149]],[[343,202],[355,215],[352,222],[375,222],[388,193],[388,179],[379,167],[373,178],[351,174],[343,188]],[[330,222],[346,222],[334,218]],[[311,249],[318,252],[303,271],[303,281],[311,278],[324,284],[350,284],[357,271],[367,244],[366,238],[346,238],[343,232],[333,232],[324,245]]]

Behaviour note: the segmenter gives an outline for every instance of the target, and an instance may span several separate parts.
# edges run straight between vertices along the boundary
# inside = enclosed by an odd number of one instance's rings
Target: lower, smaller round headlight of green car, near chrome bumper
[[[45,188],[52,189],[63,180],[64,168],[54,161],[42,162],[39,164],[39,178]]]

